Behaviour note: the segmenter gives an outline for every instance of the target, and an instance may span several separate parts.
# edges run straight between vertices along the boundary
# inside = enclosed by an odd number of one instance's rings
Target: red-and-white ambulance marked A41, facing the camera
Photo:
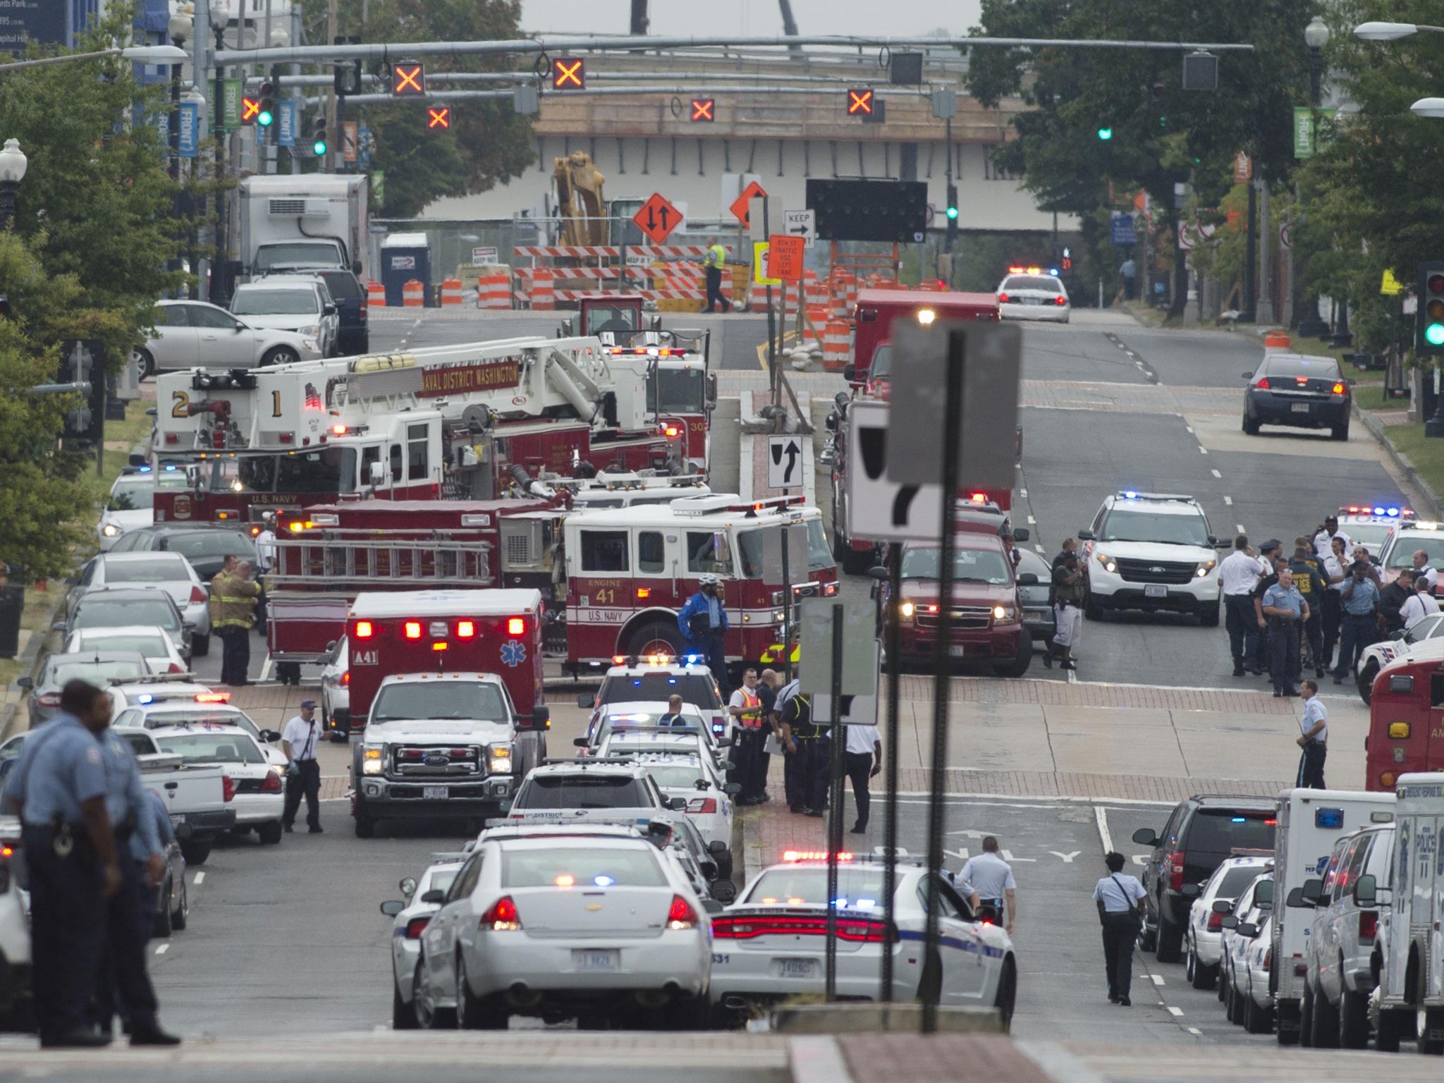
[[[542,595],[367,591],[347,615],[355,832],[484,819],[546,758]]]

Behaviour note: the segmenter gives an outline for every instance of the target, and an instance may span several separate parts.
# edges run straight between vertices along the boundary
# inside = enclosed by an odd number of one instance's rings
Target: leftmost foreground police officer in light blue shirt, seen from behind
[[[4,790],[22,823],[35,1015],[48,1048],[110,1043],[91,1022],[105,902],[121,888],[95,739],[98,696],[84,680],[66,683],[61,712],[26,738]]]

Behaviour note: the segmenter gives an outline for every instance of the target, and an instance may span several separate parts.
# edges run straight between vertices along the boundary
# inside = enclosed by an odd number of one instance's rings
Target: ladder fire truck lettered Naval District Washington
[[[645,357],[573,336],[168,373],[153,452],[185,464],[191,487],[166,492],[156,518],[536,494],[539,481],[596,469],[687,472],[692,419],[650,413],[645,371]]]

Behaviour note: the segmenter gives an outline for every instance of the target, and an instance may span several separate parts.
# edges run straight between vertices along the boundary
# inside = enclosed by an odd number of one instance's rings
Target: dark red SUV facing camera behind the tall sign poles
[[[1022,624],[1018,583],[1035,583],[1035,575],[1014,576],[1012,562],[995,533],[960,524],[953,557],[952,654],[965,661],[986,661],[999,676],[1021,677],[1032,661],[1032,637]],[[887,606],[900,615],[900,661],[931,661],[937,643],[939,547],[902,544],[900,593],[878,585],[879,622]]]

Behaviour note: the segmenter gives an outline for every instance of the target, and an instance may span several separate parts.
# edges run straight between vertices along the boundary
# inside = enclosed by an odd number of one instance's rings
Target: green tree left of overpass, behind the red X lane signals
[[[368,42],[510,40],[521,36],[517,0],[341,0],[341,33],[361,33]],[[323,39],[326,0],[303,0],[312,40]],[[504,56],[426,56],[426,72],[511,71]],[[494,90],[477,87],[477,90]],[[479,98],[452,103],[448,133],[426,129],[420,103],[368,105],[362,113],[375,136],[371,159],[386,173],[388,218],[407,218],[443,195],[485,192],[517,176],[531,162],[531,123],[518,117],[510,100]]]

